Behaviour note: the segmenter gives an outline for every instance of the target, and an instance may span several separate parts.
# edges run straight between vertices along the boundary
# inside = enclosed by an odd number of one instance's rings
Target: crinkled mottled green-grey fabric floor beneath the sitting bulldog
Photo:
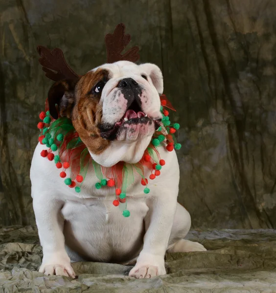
[[[42,258],[37,230],[0,228],[0,293],[15,292],[276,292],[276,230],[193,230],[187,239],[207,252],[166,255],[167,275],[131,278],[131,267],[73,263],[75,280],[37,272]]]

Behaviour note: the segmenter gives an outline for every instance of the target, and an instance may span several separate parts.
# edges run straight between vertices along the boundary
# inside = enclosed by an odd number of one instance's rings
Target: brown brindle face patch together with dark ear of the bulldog
[[[108,73],[105,69],[90,71],[80,77],[78,81],[56,82],[48,92],[52,117],[57,119],[59,112],[62,117],[71,119],[81,140],[92,153],[97,155],[110,145],[110,141],[100,136],[97,126],[102,118],[101,94],[94,93],[92,89],[103,78],[107,78]],[[56,104],[58,108],[56,108]]]

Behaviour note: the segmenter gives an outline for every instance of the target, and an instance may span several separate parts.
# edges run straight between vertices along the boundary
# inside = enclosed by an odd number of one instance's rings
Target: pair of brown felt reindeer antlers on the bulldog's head
[[[132,47],[126,53],[122,54],[130,39],[130,35],[125,35],[125,25],[123,23],[116,26],[113,34],[107,34],[105,36],[108,63],[114,63],[120,60],[131,62],[137,62],[139,60],[138,46]],[[41,57],[39,63],[43,66],[42,69],[46,72],[47,78],[53,81],[59,81],[65,78],[76,80],[80,77],[66,63],[61,49],[55,48],[51,51],[44,46],[38,46],[37,51]]]

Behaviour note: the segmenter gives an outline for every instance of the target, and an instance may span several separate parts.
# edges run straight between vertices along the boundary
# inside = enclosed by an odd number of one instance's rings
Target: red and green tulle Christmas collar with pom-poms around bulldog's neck
[[[80,193],[86,178],[88,167],[92,164],[98,182],[96,189],[103,187],[113,188],[115,199],[114,206],[119,206],[124,217],[130,216],[127,209],[127,188],[134,182],[134,172],[141,176],[141,185],[144,193],[148,194],[148,180],[154,180],[161,175],[161,169],[165,161],[161,159],[158,148],[165,147],[167,151],[180,149],[175,132],[179,129],[178,123],[171,123],[169,111],[175,110],[165,95],[161,95],[161,126],[155,131],[151,143],[145,150],[142,159],[136,164],[118,162],[112,167],[103,167],[96,163],[91,157],[87,146],[82,142],[70,119],[60,117],[57,120],[49,115],[48,103],[46,101],[45,111],[41,112],[39,118],[42,120],[37,127],[40,129],[39,142],[46,146],[41,151],[41,156],[54,161],[60,169],[60,177],[64,179],[65,185],[74,188]],[[167,108],[167,109],[166,109]],[[145,168],[151,171],[149,178],[145,178]]]

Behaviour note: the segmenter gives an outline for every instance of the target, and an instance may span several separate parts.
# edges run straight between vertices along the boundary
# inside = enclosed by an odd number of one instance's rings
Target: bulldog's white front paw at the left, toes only
[[[67,276],[71,278],[75,278],[76,274],[71,267],[69,261],[56,260],[53,262],[43,262],[41,267],[39,268],[39,272],[42,272],[46,275],[59,275],[59,276]]]

